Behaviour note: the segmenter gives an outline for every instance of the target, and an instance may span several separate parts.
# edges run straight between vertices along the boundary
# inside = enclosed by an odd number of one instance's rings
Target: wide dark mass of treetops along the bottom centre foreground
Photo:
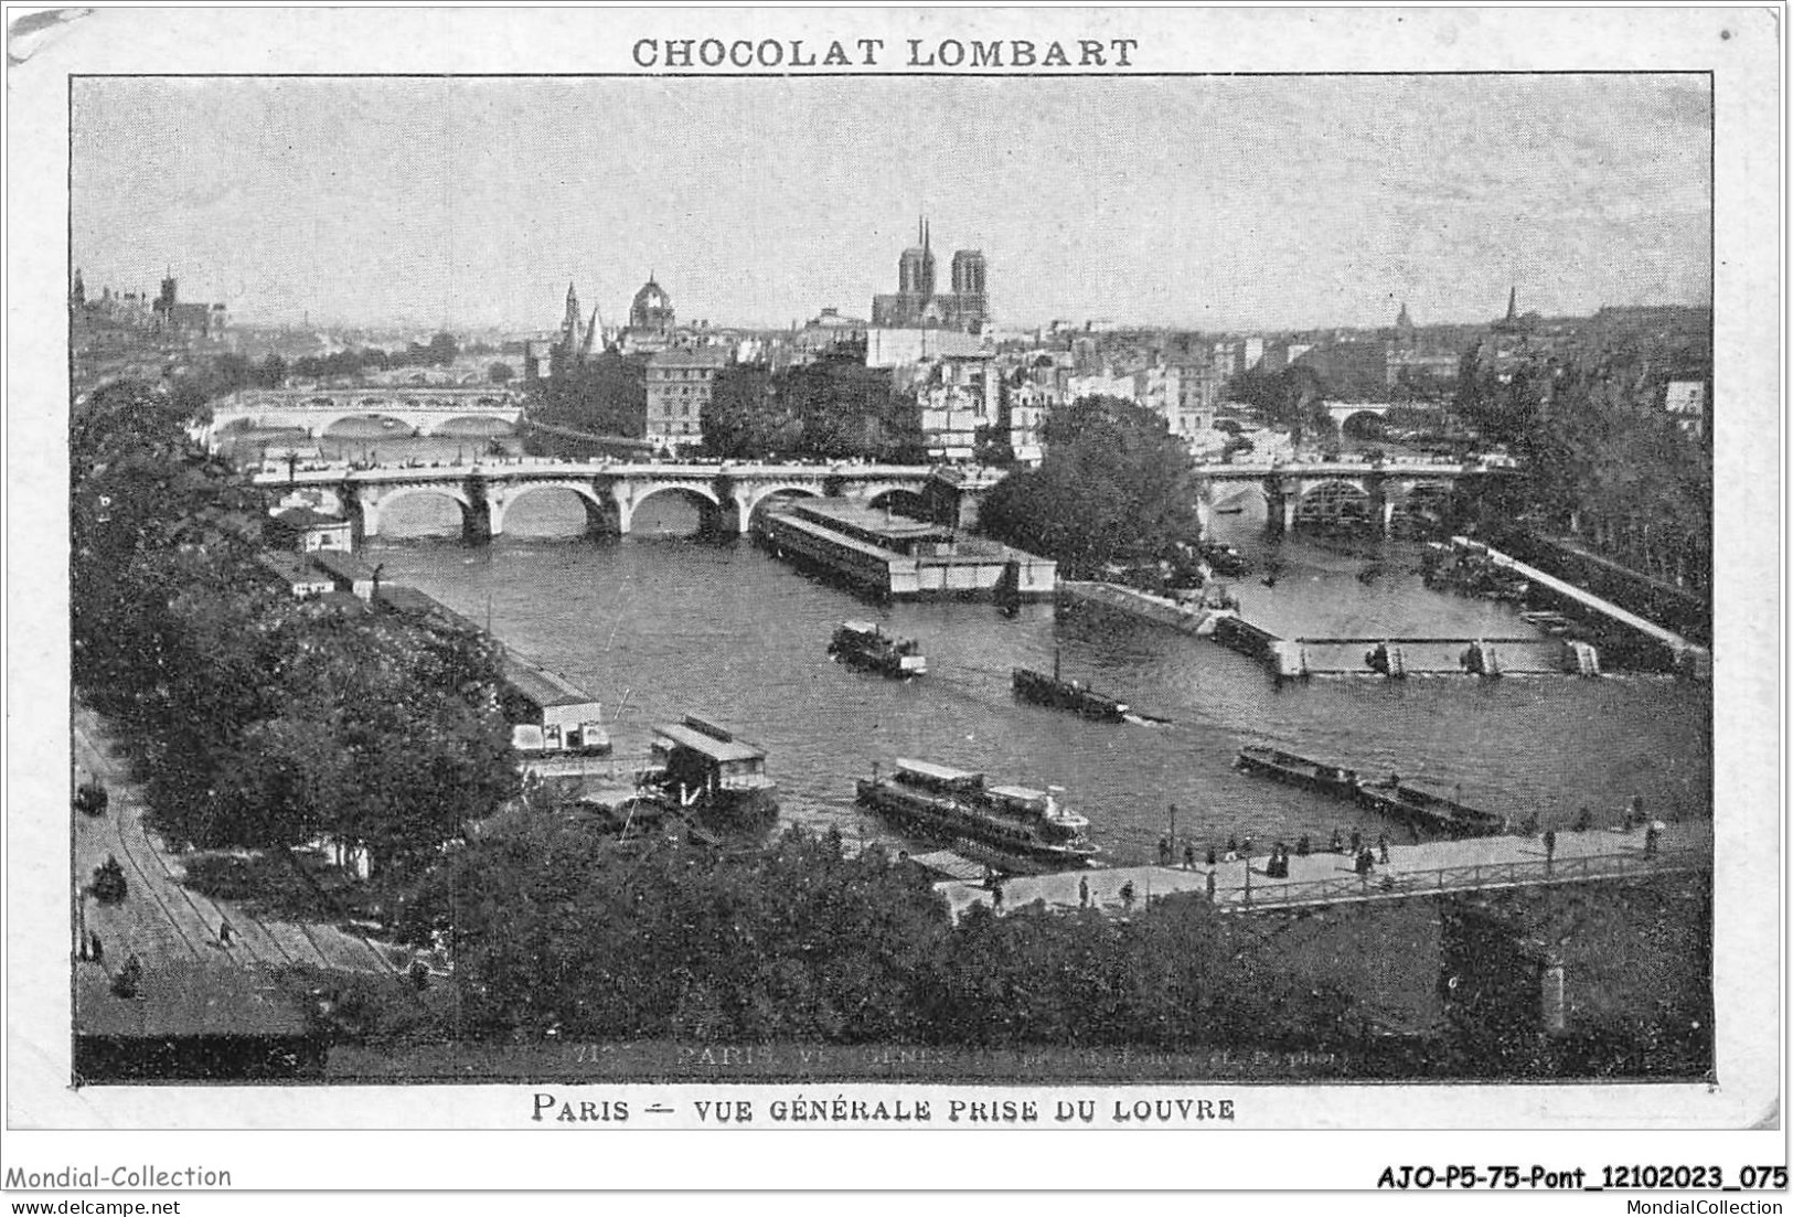
[[[1187,1049],[1318,1038],[1348,1006],[1243,961],[1200,900],[952,925],[920,871],[800,830],[635,855],[531,816],[457,850],[405,925],[452,936],[479,1036]]]

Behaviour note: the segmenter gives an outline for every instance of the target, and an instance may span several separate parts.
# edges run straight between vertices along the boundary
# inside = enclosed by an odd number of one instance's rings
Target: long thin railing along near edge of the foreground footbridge
[[[1348,857],[1348,855],[1341,855]],[[1560,859],[1531,859],[1524,862],[1477,862],[1470,866],[1440,866],[1425,871],[1382,871],[1352,875],[1348,878],[1318,878],[1295,884],[1269,880],[1264,885],[1234,887],[1216,893],[1223,911],[1275,909],[1286,905],[1341,903],[1347,900],[1377,900],[1395,896],[1425,896],[1447,891],[1481,891],[1486,887],[1531,887],[1542,884],[1574,884],[1585,880],[1626,878],[1667,871],[1705,869],[1711,855],[1698,850],[1664,850],[1650,853],[1596,853]]]

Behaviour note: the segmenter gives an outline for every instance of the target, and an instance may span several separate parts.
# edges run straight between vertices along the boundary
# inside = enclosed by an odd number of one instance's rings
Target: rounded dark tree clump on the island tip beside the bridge
[[[990,491],[979,513],[988,536],[1083,575],[1200,539],[1194,464],[1151,410],[1079,398],[1047,419],[1045,448],[1038,470]]]

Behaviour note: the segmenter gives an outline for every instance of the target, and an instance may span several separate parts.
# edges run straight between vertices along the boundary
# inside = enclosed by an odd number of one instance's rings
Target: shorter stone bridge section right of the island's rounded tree
[[[1269,525],[1284,532],[1304,525],[1359,525],[1382,532],[1409,518],[1434,522],[1460,486],[1511,477],[1515,470],[1486,461],[1268,461],[1201,464],[1196,511],[1208,525],[1216,504],[1257,489]]]

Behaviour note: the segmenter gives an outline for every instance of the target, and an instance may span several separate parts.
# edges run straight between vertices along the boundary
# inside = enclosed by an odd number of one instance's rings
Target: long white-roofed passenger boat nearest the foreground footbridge
[[[981,772],[898,758],[888,778],[859,781],[859,801],[905,828],[975,846],[999,869],[1078,869],[1101,853],[1060,787],[986,785]]]

